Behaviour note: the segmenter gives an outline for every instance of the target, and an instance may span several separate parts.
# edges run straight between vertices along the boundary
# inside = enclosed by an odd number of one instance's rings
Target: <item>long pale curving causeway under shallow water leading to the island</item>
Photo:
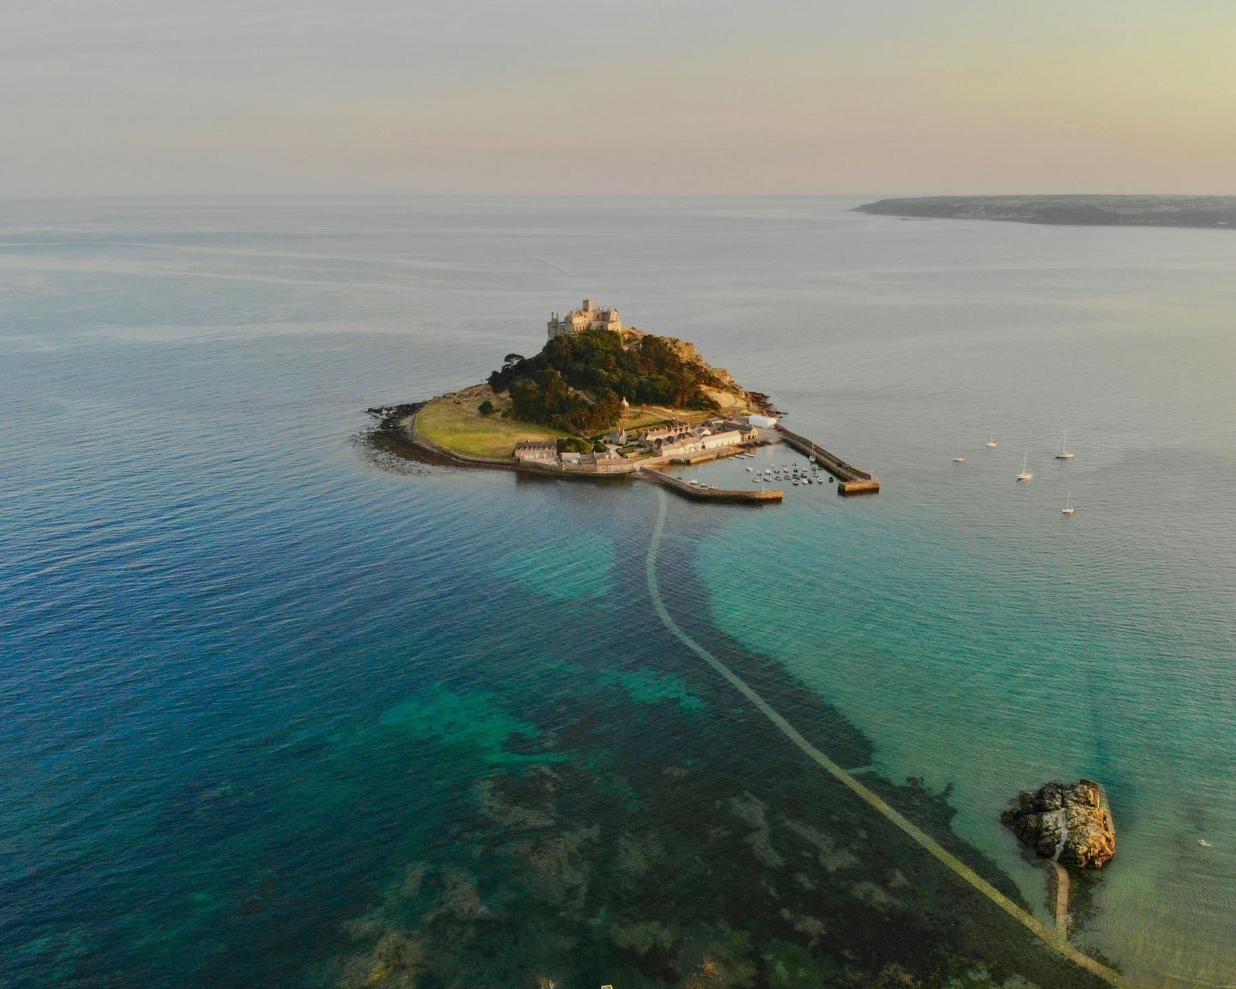
[[[755,707],[764,717],[771,721],[781,733],[794,742],[800,749],[806,753],[807,758],[813,763],[819,765],[822,769],[828,771],[839,783],[844,784],[855,796],[864,800],[881,815],[884,815],[889,821],[901,828],[906,834],[913,838],[928,854],[937,858],[946,867],[952,869],[960,879],[969,883],[974,889],[986,896],[991,902],[1009,914],[1014,920],[1018,921],[1022,926],[1031,931],[1036,937],[1042,938],[1044,943],[1058,951],[1070,962],[1080,966],[1088,972],[1093,972],[1100,979],[1106,982],[1109,985],[1119,987],[1119,989],[1132,989],[1132,983],[1125,979],[1119,972],[1115,972],[1101,962],[1096,962],[1089,954],[1085,954],[1072,944],[1069,944],[1062,936],[1058,936],[1046,925],[1036,920],[1030,912],[1022,910],[1017,904],[1005,896],[1000,890],[993,886],[986,879],[979,875],[974,869],[962,862],[957,855],[948,852],[943,846],[939,844],[934,838],[932,838],[927,832],[920,828],[917,825],[911,823],[911,821],[894,810],[889,804],[880,797],[874,791],[869,790],[861,783],[859,783],[854,776],[842,769],[837,763],[824,755],[819,749],[812,745],[806,738],[803,738],[798,731],[781,717],[759,694],[756,694],[745,680],[743,680],[738,674],[735,674],[729,666],[722,663],[717,656],[705,649],[700,643],[692,639],[677,622],[674,621],[674,616],[670,614],[669,608],[665,607],[665,601],[661,598],[660,586],[656,581],[656,553],[661,545],[661,533],[665,529],[665,506],[666,498],[662,490],[658,490],[659,508],[656,513],[656,525],[653,529],[653,540],[648,548],[646,570],[648,570],[648,593],[653,600],[653,608],[656,611],[658,617],[661,623],[670,632],[674,638],[681,642],[687,649],[695,653],[700,659],[712,666],[713,670],[719,673],[729,684],[742,694],[751,706]]]

